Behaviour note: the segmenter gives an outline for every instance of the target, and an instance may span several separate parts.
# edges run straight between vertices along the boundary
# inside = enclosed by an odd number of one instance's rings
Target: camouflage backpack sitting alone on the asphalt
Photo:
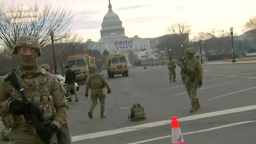
[[[132,107],[128,119],[130,121],[141,121],[146,119],[143,106],[139,102],[135,102]]]

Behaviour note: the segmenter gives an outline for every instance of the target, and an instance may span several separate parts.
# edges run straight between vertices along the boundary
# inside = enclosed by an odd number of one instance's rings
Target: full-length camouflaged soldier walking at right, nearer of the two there
[[[201,107],[197,99],[196,91],[197,87],[202,86],[203,78],[203,67],[201,62],[194,57],[194,53],[195,51],[192,48],[185,50],[187,59],[181,68],[183,76],[185,77],[186,91],[191,99],[191,113]]]

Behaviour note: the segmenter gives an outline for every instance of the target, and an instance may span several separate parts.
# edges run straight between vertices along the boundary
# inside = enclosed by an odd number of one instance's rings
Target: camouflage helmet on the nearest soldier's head
[[[20,47],[31,47],[38,50],[37,56],[41,57],[42,52],[39,46],[38,39],[34,36],[20,36],[13,48],[12,53],[18,54],[18,48]]]

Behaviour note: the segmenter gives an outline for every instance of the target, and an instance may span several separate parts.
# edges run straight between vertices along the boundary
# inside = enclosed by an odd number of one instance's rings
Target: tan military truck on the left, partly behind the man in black
[[[76,81],[84,82],[89,75],[88,66],[95,65],[95,59],[88,54],[75,54],[67,57],[67,66],[76,73]]]

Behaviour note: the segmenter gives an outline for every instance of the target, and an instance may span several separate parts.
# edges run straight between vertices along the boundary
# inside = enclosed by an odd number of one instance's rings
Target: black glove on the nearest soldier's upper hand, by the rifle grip
[[[26,113],[28,107],[26,105],[26,103],[20,101],[20,100],[16,100],[16,99],[12,99],[10,104],[9,104],[10,110],[17,115],[23,115]]]

